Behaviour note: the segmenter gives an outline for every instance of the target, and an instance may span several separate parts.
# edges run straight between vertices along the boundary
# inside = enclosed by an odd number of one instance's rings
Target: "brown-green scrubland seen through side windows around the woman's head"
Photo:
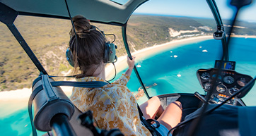
[[[92,24],[105,33],[107,42],[115,39],[118,57],[126,55],[120,26]],[[14,25],[49,75],[74,75],[73,67],[66,61],[65,55],[69,47],[70,20],[18,16]],[[33,80],[40,74],[39,70],[3,23],[0,23],[0,32],[0,91],[30,88]],[[115,37],[108,34],[114,34]],[[107,80],[110,80],[114,77],[115,70],[111,65],[108,68],[111,70],[107,71]]]

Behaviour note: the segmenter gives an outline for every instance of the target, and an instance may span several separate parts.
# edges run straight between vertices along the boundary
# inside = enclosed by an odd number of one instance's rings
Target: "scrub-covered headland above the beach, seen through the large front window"
[[[127,39],[129,45],[138,50],[175,39],[170,37],[169,28],[176,31],[194,30],[190,26],[200,25],[190,18],[136,15],[129,19]]]

